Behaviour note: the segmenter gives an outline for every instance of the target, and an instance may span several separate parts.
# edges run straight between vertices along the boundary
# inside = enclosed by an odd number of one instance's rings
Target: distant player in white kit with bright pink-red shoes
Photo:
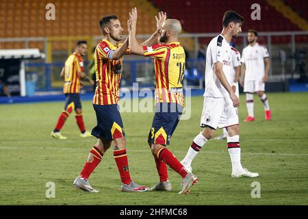
[[[270,105],[264,93],[265,82],[268,81],[268,71],[270,70],[270,59],[266,47],[257,43],[257,36],[257,31],[248,30],[247,40],[249,44],[242,51],[241,85],[244,86],[244,92],[246,92],[248,111],[248,116],[244,122],[255,120],[253,113],[253,94],[255,92],[264,105],[266,120],[271,119]]]

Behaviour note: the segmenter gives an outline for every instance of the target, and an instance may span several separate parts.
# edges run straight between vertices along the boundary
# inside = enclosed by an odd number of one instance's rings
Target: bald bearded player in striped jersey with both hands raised
[[[170,191],[167,166],[182,177],[182,190],[179,194],[188,194],[190,188],[197,181],[196,175],[188,172],[166,146],[170,143],[183,111],[183,73],[185,69],[185,52],[179,42],[181,23],[175,19],[166,20],[166,13],[159,13],[157,31],[150,40],[142,46],[136,40],[137,9],[130,12],[131,31],[129,33],[129,47],[131,53],[154,57],[155,63],[155,116],[149,133],[149,146],[153,153],[159,183],[151,190]],[[166,21],[165,21],[166,20]],[[161,22],[159,22],[161,21]],[[157,38],[159,42],[157,43]]]

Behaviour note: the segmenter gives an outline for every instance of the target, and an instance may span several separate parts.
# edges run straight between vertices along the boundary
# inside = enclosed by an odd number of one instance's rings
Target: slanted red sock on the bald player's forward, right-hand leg
[[[175,170],[175,172],[179,173],[182,178],[186,177],[188,172],[185,170],[184,166],[177,160],[175,155],[173,155],[168,149],[165,147],[161,147],[157,151],[157,157],[164,161],[170,168]]]

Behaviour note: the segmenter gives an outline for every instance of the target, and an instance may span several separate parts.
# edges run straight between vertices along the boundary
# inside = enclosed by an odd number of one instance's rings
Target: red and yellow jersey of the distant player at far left
[[[64,66],[64,86],[63,92],[66,93],[79,93],[80,92],[80,72],[84,72],[84,59],[73,53],[68,56]]]

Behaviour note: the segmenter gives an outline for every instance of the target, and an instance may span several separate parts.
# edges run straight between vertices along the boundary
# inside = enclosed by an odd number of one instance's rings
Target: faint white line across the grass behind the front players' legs
[[[80,149],[80,148],[63,148],[63,147],[16,147],[16,146],[0,146],[0,150],[55,150],[55,151],[89,151],[90,148],[88,149]],[[138,153],[146,153],[146,152],[150,152],[149,150],[129,150],[129,153],[133,153],[133,152],[138,152]],[[186,153],[187,151],[174,151],[175,153]],[[223,154],[223,153],[227,153],[227,149],[225,152],[223,151],[206,151],[203,150],[203,153],[209,153],[209,154]],[[252,152],[244,152],[241,153],[242,155],[277,155],[277,156],[308,156],[308,153],[252,153]]]

